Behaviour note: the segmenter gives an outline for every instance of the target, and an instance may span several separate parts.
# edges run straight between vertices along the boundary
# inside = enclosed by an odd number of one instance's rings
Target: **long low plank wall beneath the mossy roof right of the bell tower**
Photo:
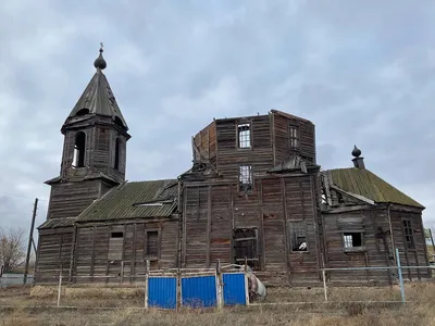
[[[146,254],[147,231],[159,231],[157,258]],[[122,233],[122,237],[111,237]],[[178,254],[178,221],[126,222],[121,225],[79,225],[74,254],[74,276],[77,281],[92,276],[110,276],[108,281],[129,279],[145,274],[146,260],[151,268],[176,267]],[[89,277],[85,277],[89,276]],[[97,278],[94,279],[97,281]]]

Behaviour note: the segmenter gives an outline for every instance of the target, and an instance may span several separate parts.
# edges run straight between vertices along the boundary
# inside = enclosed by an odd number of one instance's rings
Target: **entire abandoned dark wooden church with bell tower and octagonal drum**
[[[128,127],[96,73],[62,126],[60,175],[39,226],[36,281],[134,279],[151,268],[244,264],[266,285],[314,285],[322,268],[427,265],[424,206],[365,168],[321,171],[314,124],[272,110],[220,118],[192,137],[174,179],[125,181]],[[77,278],[77,276],[88,278]],[[430,269],[407,277],[427,278]],[[390,283],[388,271],[328,272],[328,281]],[[105,281],[108,281],[105,279]],[[116,280],[120,281],[120,280]]]

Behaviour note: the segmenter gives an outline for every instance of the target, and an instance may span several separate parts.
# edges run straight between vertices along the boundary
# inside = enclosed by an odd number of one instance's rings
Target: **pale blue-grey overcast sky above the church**
[[[318,163],[365,165],[435,227],[435,1],[0,1],[0,226],[46,218],[60,128],[104,71],[133,138],[127,178],[174,178],[213,117],[316,126]]]

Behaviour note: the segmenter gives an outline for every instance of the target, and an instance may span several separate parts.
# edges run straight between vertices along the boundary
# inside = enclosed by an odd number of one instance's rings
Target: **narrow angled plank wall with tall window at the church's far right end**
[[[395,248],[399,249],[400,263],[403,266],[427,266],[426,243],[424,241],[424,230],[422,226],[422,216],[420,212],[395,205],[389,211],[391,227],[394,234]],[[411,221],[413,230],[414,248],[406,246],[403,220]],[[431,271],[428,269],[403,269],[403,277],[418,279],[422,277],[430,277]]]

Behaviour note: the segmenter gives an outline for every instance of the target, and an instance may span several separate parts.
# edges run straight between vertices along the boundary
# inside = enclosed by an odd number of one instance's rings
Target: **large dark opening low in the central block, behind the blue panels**
[[[247,261],[251,268],[259,268],[259,249],[257,228],[236,228],[234,230],[234,254],[236,264]]]

